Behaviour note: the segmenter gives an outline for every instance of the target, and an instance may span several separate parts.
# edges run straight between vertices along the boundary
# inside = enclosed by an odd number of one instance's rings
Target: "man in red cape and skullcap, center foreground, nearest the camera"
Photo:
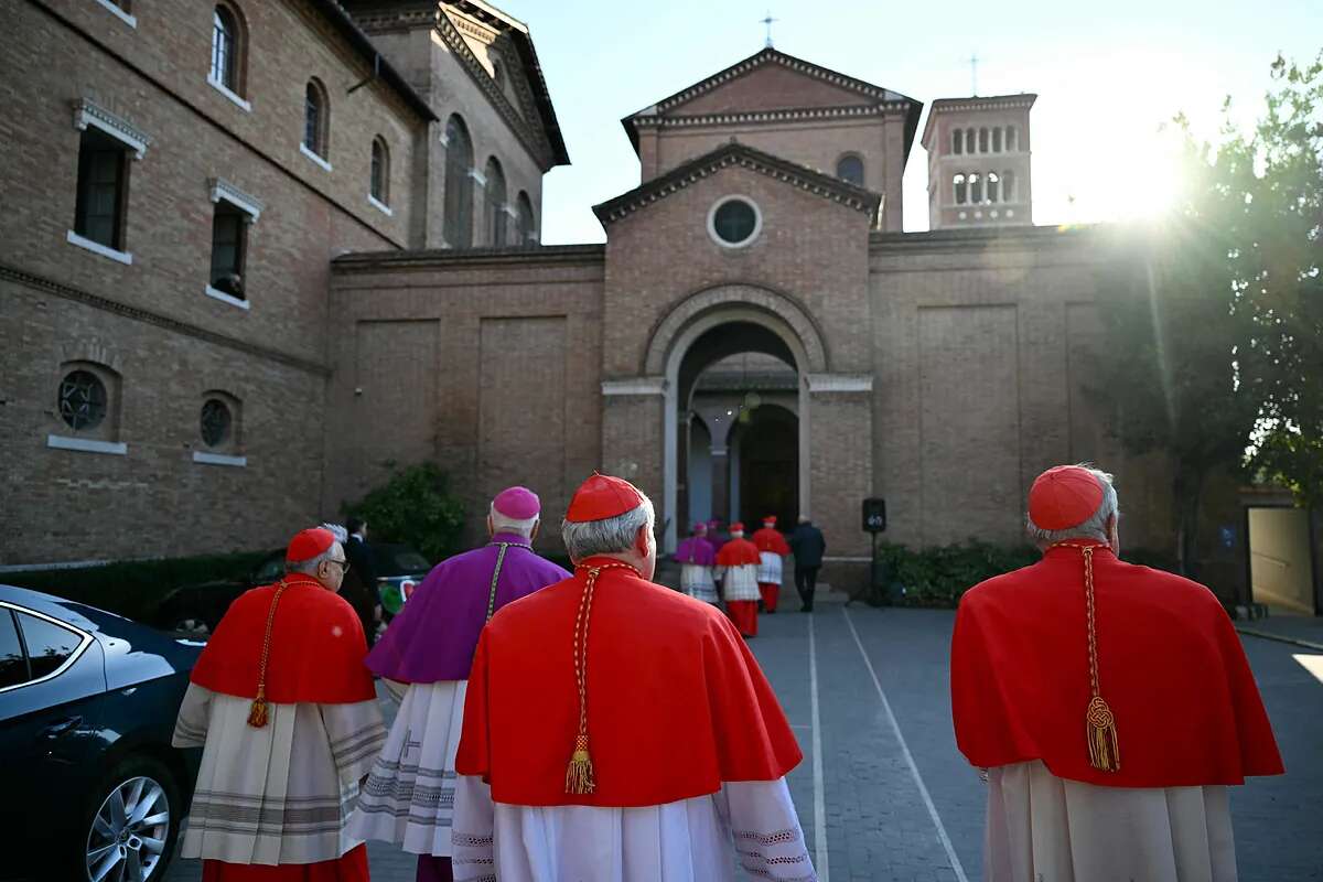
[[[815,879],[785,775],[802,755],[710,604],[651,582],[652,502],[593,475],[574,575],[478,641],[455,768],[456,879]]]

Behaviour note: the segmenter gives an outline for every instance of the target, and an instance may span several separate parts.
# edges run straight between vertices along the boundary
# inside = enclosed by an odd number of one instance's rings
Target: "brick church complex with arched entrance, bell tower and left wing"
[[[274,546],[423,460],[471,514],[626,475],[668,546],[807,512],[856,571],[864,497],[892,541],[1011,543],[1041,468],[1097,460],[1130,542],[1170,543],[1080,357],[1123,257],[1033,226],[1032,95],[921,132],[767,49],[622,120],[640,184],[595,206],[605,245],[541,246],[569,159],[523,24],[138,5],[21,0],[3,38],[0,565]]]

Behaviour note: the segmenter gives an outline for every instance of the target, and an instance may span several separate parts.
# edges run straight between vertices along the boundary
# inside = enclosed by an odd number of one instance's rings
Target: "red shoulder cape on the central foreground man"
[[[574,616],[586,575],[501,608],[468,678],[455,770],[513,805],[659,805],[777,780],[802,754],[767,678],[716,608],[605,570],[589,618],[593,793],[566,793],[578,731]]]

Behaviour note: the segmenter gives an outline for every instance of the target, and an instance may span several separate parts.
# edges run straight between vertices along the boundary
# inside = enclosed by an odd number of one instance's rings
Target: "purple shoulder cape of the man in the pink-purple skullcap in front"
[[[511,545],[496,582],[496,610],[570,577],[533,554],[523,537],[497,533],[490,545],[433,567],[368,653],[368,669],[402,682],[468,680],[501,542]]]

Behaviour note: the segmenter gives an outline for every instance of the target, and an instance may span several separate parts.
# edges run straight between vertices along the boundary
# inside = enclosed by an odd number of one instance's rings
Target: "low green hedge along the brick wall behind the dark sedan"
[[[0,582],[78,600],[130,619],[144,619],[163,596],[181,584],[241,578],[270,553],[206,554],[120,561],[69,570],[4,573]]]

